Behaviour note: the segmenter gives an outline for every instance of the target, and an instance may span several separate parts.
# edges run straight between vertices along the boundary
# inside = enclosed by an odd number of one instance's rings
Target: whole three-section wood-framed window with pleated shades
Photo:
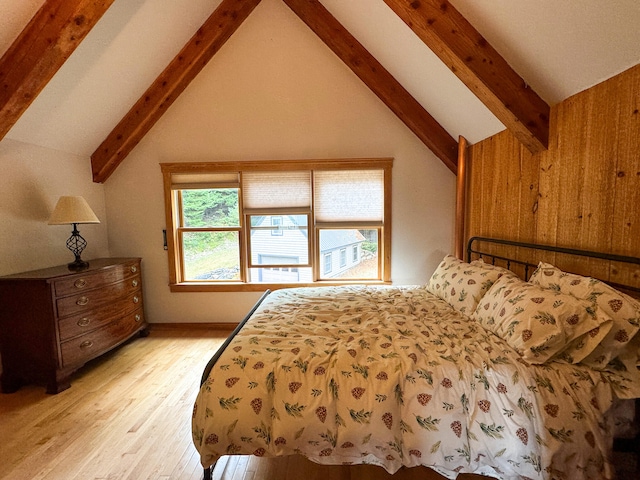
[[[172,291],[389,282],[391,165],[162,164]]]

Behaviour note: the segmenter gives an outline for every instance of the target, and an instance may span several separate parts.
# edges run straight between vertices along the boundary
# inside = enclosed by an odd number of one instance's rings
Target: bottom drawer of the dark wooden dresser
[[[142,309],[60,344],[62,366],[70,367],[95,358],[140,329],[144,322]]]

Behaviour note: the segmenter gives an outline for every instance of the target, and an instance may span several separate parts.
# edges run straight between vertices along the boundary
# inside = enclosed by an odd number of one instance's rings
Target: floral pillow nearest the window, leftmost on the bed
[[[514,274],[483,262],[467,263],[447,255],[426,288],[460,313],[471,316],[487,290],[503,275]]]

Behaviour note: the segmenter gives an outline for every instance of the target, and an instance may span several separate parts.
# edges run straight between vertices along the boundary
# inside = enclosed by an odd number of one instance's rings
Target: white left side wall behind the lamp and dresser
[[[82,195],[100,224],[79,225],[83,259],[107,257],[104,187],[89,159],[5,138],[0,142],[0,275],[66,264],[71,225],[48,225],[61,195]]]

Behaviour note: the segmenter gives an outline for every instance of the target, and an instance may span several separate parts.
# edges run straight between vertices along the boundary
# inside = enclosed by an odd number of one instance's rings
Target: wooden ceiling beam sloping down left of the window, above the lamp
[[[94,182],[109,178],[259,3],[222,1],[91,155]]]

